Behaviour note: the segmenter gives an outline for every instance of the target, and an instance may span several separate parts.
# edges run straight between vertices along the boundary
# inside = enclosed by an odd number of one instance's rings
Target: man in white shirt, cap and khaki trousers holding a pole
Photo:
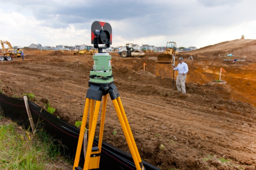
[[[180,57],[178,60],[180,62],[178,66],[176,68],[173,67],[173,70],[178,70],[179,73],[176,80],[176,86],[178,92],[186,93],[185,81],[188,73],[188,65],[187,63],[183,62],[182,57]]]

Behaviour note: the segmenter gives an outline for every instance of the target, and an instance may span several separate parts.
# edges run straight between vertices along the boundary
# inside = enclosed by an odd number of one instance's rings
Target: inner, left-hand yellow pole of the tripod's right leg
[[[114,108],[116,109],[116,113],[117,113],[118,119],[119,119],[119,121],[120,121],[121,127],[122,127],[122,129],[123,129],[125,139],[126,139],[126,141],[127,141],[127,143],[128,143],[129,149],[130,149],[130,151],[131,151],[131,155],[132,155],[133,161],[134,161],[134,163],[135,163],[136,169],[137,169],[137,170],[141,170],[142,168],[140,167],[138,158],[137,158],[136,153],[135,153],[135,151],[134,151],[134,148],[133,148],[133,145],[132,145],[132,142],[131,142],[131,138],[130,138],[130,136],[129,136],[129,133],[128,133],[127,128],[126,128],[126,125],[125,125],[125,123],[124,123],[123,116],[122,116],[122,114],[121,114],[119,105],[118,105],[118,103],[117,103],[117,99],[114,99],[114,100],[112,100],[112,101],[113,101],[113,104],[114,104]]]

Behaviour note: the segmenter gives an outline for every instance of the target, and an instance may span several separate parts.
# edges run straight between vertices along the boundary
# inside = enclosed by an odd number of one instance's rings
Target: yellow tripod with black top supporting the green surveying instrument
[[[138,148],[133,138],[130,125],[125,115],[124,108],[121,103],[120,95],[118,93],[117,87],[113,84],[113,82],[110,82],[107,84],[101,84],[101,83],[95,83],[95,82],[89,81],[90,88],[87,90],[87,94],[86,94],[86,103],[85,103],[84,112],[83,112],[82,125],[80,129],[73,170],[99,169],[99,159],[101,154],[102,137],[103,137],[103,129],[104,129],[104,123],[105,123],[108,93],[110,95],[111,100],[113,101],[114,108],[116,110],[118,119],[123,129],[125,139],[131,151],[131,155],[135,163],[136,169],[145,170],[139,155]],[[95,129],[96,129],[102,96],[103,96],[103,105],[102,105],[101,125],[99,130],[99,142],[97,147],[93,147],[93,139],[95,135]],[[94,109],[95,101],[96,101],[96,104]],[[84,131],[85,131],[87,116],[89,112],[89,107],[90,107],[90,117],[89,117],[88,145],[87,145],[87,151],[85,155],[84,167],[82,169],[81,167],[78,166],[78,164],[79,164],[80,153],[82,149],[82,143],[84,138]]]

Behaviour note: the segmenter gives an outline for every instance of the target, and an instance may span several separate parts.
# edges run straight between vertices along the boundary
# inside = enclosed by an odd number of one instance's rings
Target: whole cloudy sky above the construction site
[[[0,0],[0,39],[12,46],[91,43],[91,24],[112,26],[125,43],[197,48],[256,39],[255,0]]]

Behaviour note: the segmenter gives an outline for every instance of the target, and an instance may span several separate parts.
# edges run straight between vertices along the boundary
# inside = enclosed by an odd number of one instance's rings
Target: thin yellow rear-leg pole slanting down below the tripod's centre
[[[102,146],[102,138],[103,138],[103,130],[104,130],[104,123],[105,123],[107,101],[108,101],[108,94],[103,96],[103,105],[102,105],[102,113],[101,113],[101,128],[99,130],[99,143],[98,143],[99,153],[101,153],[101,146]],[[100,157],[98,157],[98,166],[97,167],[99,167],[99,159],[100,159]]]

